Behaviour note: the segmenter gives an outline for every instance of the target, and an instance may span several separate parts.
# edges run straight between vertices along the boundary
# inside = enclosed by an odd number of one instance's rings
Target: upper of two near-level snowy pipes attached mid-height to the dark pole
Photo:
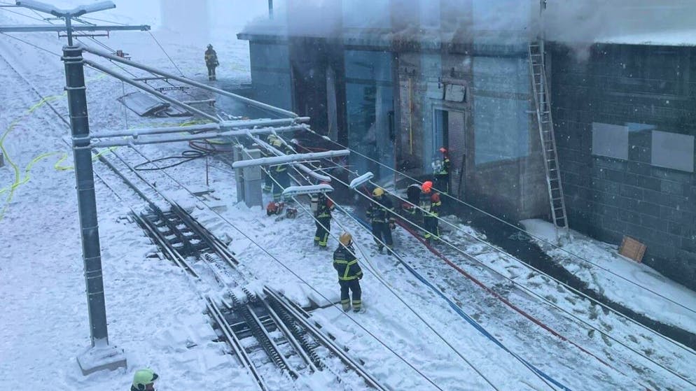
[[[309,121],[309,117],[297,117],[297,118],[280,118],[277,120],[232,120],[232,121],[220,121],[218,123],[209,123],[201,125],[188,125],[181,127],[153,127],[153,128],[143,128],[143,129],[124,129],[124,130],[107,130],[102,132],[91,132],[91,138],[108,138],[108,137],[121,137],[121,136],[132,136],[137,138],[144,134],[165,134],[165,133],[179,133],[179,131],[201,131],[201,130],[222,130],[222,129],[244,129],[246,131],[251,131],[253,134],[267,134],[272,131],[284,132],[284,131],[295,131],[306,129],[304,126],[288,126],[288,127],[277,127],[271,128],[276,125],[295,125],[302,122]],[[263,126],[262,129],[250,129],[253,127]]]

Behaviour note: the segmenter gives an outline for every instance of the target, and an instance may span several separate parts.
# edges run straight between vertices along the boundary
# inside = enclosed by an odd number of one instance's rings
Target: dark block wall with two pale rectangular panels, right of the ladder
[[[648,247],[643,262],[695,288],[696,50],[549,52],[569,225],[608,243],[632,236]]]

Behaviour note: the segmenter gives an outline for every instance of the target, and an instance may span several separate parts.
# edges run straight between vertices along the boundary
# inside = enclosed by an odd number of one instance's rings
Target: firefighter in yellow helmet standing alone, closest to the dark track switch
[[[341,305],[343,311],[350,311],[353,304],[353,312],[360,312],[363,308],[361,301],[362,291],[360,280],[363,278],[363,271],[360,269],[358,260],[353,249],[353,237],[344,232],[338,239],[338,248],[333,252],[333,268],[338,273],[338,284],[341,285]],[[353,293],[351,302],[349,291]]]

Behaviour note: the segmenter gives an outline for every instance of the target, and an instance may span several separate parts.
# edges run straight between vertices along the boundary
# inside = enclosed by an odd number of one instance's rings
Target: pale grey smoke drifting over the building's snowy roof
[[[550,41],[577,48],[636,34],[696,26],[695,0],[275,0],[274,20],[260,17],[245,31],[288,36],[447,42],[478,39]],[[541,26],[543,26],[543,31]],[[541,34],[543,32],[543,34]],[[696,40],[696,38],[692,38]]]

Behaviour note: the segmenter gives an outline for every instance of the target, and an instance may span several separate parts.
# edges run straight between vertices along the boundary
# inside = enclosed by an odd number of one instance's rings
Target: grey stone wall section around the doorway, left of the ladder
[[[398,58],[398,167],[428,178],[444,144],[454,196],[509,221],[548,215],[527,59],[521,53],[440,52],[402,52]],[[464,87],[464,101],[450,99],[450,85]],[[433,131],[436,110],[457,113],[444,140]]]

